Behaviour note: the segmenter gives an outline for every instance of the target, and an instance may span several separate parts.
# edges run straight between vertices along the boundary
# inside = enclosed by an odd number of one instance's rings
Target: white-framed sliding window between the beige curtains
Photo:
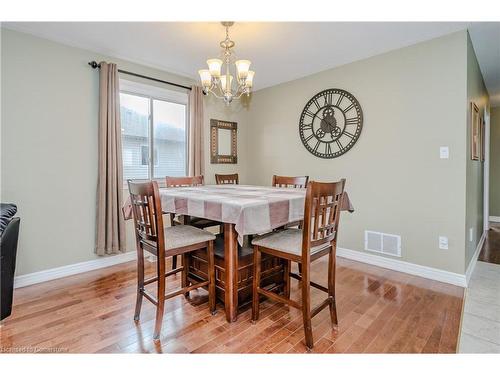
[[[120,80],[123,178],[187,175],[187,94]]]

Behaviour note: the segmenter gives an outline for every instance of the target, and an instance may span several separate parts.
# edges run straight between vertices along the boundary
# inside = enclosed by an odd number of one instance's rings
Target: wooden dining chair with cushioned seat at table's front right
[[[304,204],[303,229],[290,228],[263,235],[252,241],[254,245],[254,278],[252,320],[259,319],[259,296],[264,295],[276,301],[286,303],[302,310],[306,346],[313,348],[311,319],[326,306],[330,308],[332,324],[337,325],[335,305],[335,256],[337,249],[340,206],[344,193],[345,179],[334,183],[310,182],[307,185]],[[285,269],[285,287],[283,295],[261,288],[262,253],[271,254],[285,261],[302,265],[302,274]],[[311,262],[328,255],[328,286],[311,281]],[[290,299],[290,279],[299,280],[302,290],[300,302]],[[328,294],[323,302],[311,309],[311,287]]]

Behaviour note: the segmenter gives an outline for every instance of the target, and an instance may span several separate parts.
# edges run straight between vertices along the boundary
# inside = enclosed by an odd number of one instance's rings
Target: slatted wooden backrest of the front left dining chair
[[[137,245],[154,242],[158,256],[165,252],[163,216],[156,181],[128,180]],[[158,214],[157,214],[158,213]]]

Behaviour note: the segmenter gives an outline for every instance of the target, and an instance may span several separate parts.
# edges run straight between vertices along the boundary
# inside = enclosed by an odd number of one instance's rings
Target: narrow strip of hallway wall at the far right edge
[[[500,217],[500,107],[490,116],[490,216]]]

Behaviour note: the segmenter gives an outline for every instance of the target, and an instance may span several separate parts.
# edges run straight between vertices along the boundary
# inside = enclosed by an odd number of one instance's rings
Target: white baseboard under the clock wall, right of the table
[[[337,255],[342,258],[356,260],[358,262],[368,263],[382,268],[388,268],[393,271],[409,273],[410,275],[420,276],[426,279],[458,285],[464,288],[467,286],[465,275],[459,273],[444,271],[437,268],[408,263],[398,259],[385,258],[378,255],[344,248],[337,248]]]

